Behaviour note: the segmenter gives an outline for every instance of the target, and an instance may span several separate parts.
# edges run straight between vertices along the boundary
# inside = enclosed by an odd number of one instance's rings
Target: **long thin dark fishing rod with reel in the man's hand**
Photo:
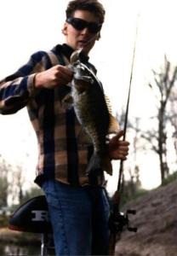
[[[138,15],[138,18],[139,18],[139,15]],[[123,141],[125,141],[125,138],[126,138],[127,125],[128,125],[128,110],[129,110],[132,78],[134,73],[134,57],[135,57],[135,51],[136,51],[137,35],[138,35],[138,22],[136,25],[131,73],[130,73],[129,86],[128,86],[128,99],[127,99],[125,120],[124,120],[124,126],[123,126]],[[126,226],[129,231],[133,231],[133,232],[137,231],[137,228],[129,226],[129,219],[128,219],[129,214],[135,214],[136,212],[134,210],[128,210],[126,214],[124,214],[123,212],[120,212],[120,203],[121,203],[122,193],[123,193],[123,160],[120,161],[117,190],[112,198],[112,212],[111,212],[111,217],[109,221],[110,230],[111,230],[110,246],[109,246],[110,255],[115,254],[116,242],[120,240],[121,233],[123,231],[124,226]]]

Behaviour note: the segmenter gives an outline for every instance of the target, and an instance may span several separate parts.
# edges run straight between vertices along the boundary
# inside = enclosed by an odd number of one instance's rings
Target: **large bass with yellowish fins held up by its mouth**
[[[71,98],[78,122],[94,146],[86,174],[89,177],[101,169],[112,175],[108,135],[117,133],[120,127],[111,114],[111,104],[100,80],[91,68],[79,61],[80,54],[81,50],[76,50],[71,55],[70,68],[74,73],[71,80]]]

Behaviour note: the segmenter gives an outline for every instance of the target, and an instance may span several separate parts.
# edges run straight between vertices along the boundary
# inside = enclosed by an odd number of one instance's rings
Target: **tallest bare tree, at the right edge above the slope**
[[[177,67],[172,67],[166,56],[164,60],[164,67],[160,73],[152,71],[154,83],[149,84],[157,99],[157,129],[148,131],[146,135],[143,135],[151,143],[151,148],[158,154],[162,183],[169,174],[166,129],[169,113],[167,106],[177,76]]]

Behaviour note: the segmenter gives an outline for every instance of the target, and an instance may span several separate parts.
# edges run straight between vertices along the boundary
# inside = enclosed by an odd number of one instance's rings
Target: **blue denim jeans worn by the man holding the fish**
[[[108,255],[110,213],[105,189],[43,183],[56,255]]]

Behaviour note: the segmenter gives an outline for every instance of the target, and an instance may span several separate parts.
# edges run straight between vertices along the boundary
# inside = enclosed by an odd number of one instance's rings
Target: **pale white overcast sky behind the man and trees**
[[[100,2],[106,8],[106,21],[100,41],[90,53],[90,61],[98,68],[98,77],[116,113],[125,108],[127,102],[136,41],[129,116],[139,117],[147,127],[149,117],[156,113],[154,97],[147,86],[151,70],[163,65],[165,54],[174,65],[177,63],[175,0]],[[61,29],[67,3],[67,0],[0,1],[0,79],[14,73],[37,50],[52,49],[63,43]],[[26,108],[13,115],[0,115],[0,154],[12,165],[23,166],[26,186],[33,183],[37,142]],[[150,160],[151,166],[147,164]],[[157,187],[160,183],[157,156],[151,152],[140,153],[136,161],[143,187]],[[110,190],[117,187],[118,163],[114,166],[114,176],[109,177]],[[134,166],[131,156],[126,166]]]

